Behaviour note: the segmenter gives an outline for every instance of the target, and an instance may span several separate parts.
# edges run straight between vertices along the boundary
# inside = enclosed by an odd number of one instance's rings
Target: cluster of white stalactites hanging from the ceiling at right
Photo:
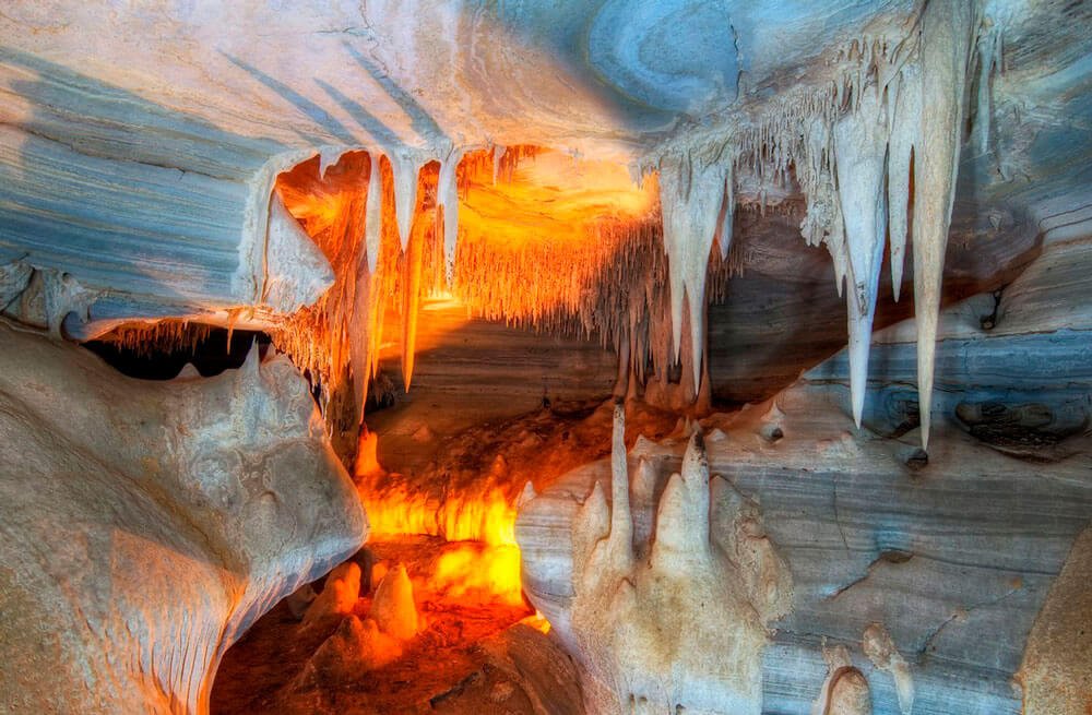
[[[883,247],[890,237],[898,300],[907,227],[913,226],[919,408],[927,445],[968,74],[976,52],[981,76],[975,133],[978,148],[985,151],[989,76],[1000,67],[999,37],[975,3],[926,3],[900,41],[854,40],[834,58],[838,76],[829,84],[790,93],[761,121],[712,147],[665,152],[660,172],[675,349],[682,296],[690,300],[701,295],[698,257],[709,251],[717,202],[724,187],[732,188],[733,170],[757,178],[763,187],[760,196],[764,187],[787,187],[795,179],[807,205],[800,233],[808,245],[827,247],[839,295],[847,286],[851,403],[858,426]],[[699,345],[693,343],[693,348]]]

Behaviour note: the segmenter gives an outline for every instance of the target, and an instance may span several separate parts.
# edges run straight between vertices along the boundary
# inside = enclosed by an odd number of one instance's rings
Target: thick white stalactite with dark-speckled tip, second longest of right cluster
[[[834,124],[838,192],[850,261],[851,285],[846,293],[850,385],[857,427],[865,405],[868,347],[887,229],[883,201],[887,119],[878,93],[869,87],[862,94],[857,109]]]

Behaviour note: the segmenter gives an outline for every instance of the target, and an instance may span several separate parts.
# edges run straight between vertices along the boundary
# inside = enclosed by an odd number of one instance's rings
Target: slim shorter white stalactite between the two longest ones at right
[[[906,260],[906,217],[910,212],[910,166],[918,142],[922,117],[922,72],[907,62],[888,86],[888,212],[891,240],[891,289],[899,300]]]

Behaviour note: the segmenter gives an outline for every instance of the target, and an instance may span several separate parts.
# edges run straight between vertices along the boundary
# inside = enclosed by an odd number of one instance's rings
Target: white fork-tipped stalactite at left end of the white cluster
[[[704,349],[705,271],[724,198],[725,171],[723,166],[705,164],[690,154],[665,157],[660,165],[664,248],[670,283],[673,355],[675,359],[680,357],[685,297],[689,307],[690,367],[696,394],[701,384]]]

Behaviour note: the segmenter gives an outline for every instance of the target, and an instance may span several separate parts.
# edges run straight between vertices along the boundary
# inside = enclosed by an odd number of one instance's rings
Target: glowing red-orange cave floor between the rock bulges
[[[212,692],[213,715],[251,713],[579,713],[582,712],[574,666],[556,641],[544,634],[549,625],[520,596],[507,597],[475,589],[476,577],[488,581],[499,558],[517,564],[514,547],[483,540],[455,540],[458,535],[391,533],[391,524],[426,523],[451,528],[452,514],[474,515],[480,510],[465,501],[503,494],[514,526],[514,502],[527,481],[542,489],[569,469],[609,453],[612,401],[555,405],[512,419],[485,424],[443,437],[432,432],[422,443],[418,434],[405,449],[413,458],[384,464],[388,469],[358,473],[355,478],[371,521],[365,550],[354,557],[365,567],[360,597],[352,613],[322,624],[304,627],[287,601],[278,604],[225,655]],[[680,429],[678,416],[637,405],[627,441],[639,433],[663,437]],[[419,429],[419,428],[418,428]],[[430,430],[425,430],[426,432]],[[379,434],[380,443],[388,436]],[[396,439],[396,438],[394,438]],[[422,460],[424,454],[427,460]],[[391,455],[391,452],[387,452]],[[388,457],[388,461],[391,461]],[[397,460],[394,460],[397,461]],[[424,462],[424,464],[423,464]],[[375,465],[378,467],[378,465]],[[426,504],[442,516],[391,515],[402,503]],[[393,519],[393,521],[391,521]],[[429,521],[431,519],[431,521]],[[495,526],[495,525],[492,525]],[[485,537],[490,525],[468,527],[470,538]],[[412,527],[408,529],[412,531]],[[440,529],[443,531],[442,528]],[[449,540],[452,539],[452,540]],[[439,584],[436,574],[446,557],[461,558],[470,573],[464,586]],[[316,652],[351,615],[368,617],[378,582],[372,564],[385,571],[404,564],[414,587],[423,630],[403,644],[393,663],[369,668],[324,671]],[[477,573],[475,573],[477,572]],[[518,574],[518,571],[517,571]],[[518,580],[515,582],[518,584]],[[314,584],[321,591],[322,583]],[[517,593],[519,586],[515,586]],[[544,703],[543,699],[548,699]]]

